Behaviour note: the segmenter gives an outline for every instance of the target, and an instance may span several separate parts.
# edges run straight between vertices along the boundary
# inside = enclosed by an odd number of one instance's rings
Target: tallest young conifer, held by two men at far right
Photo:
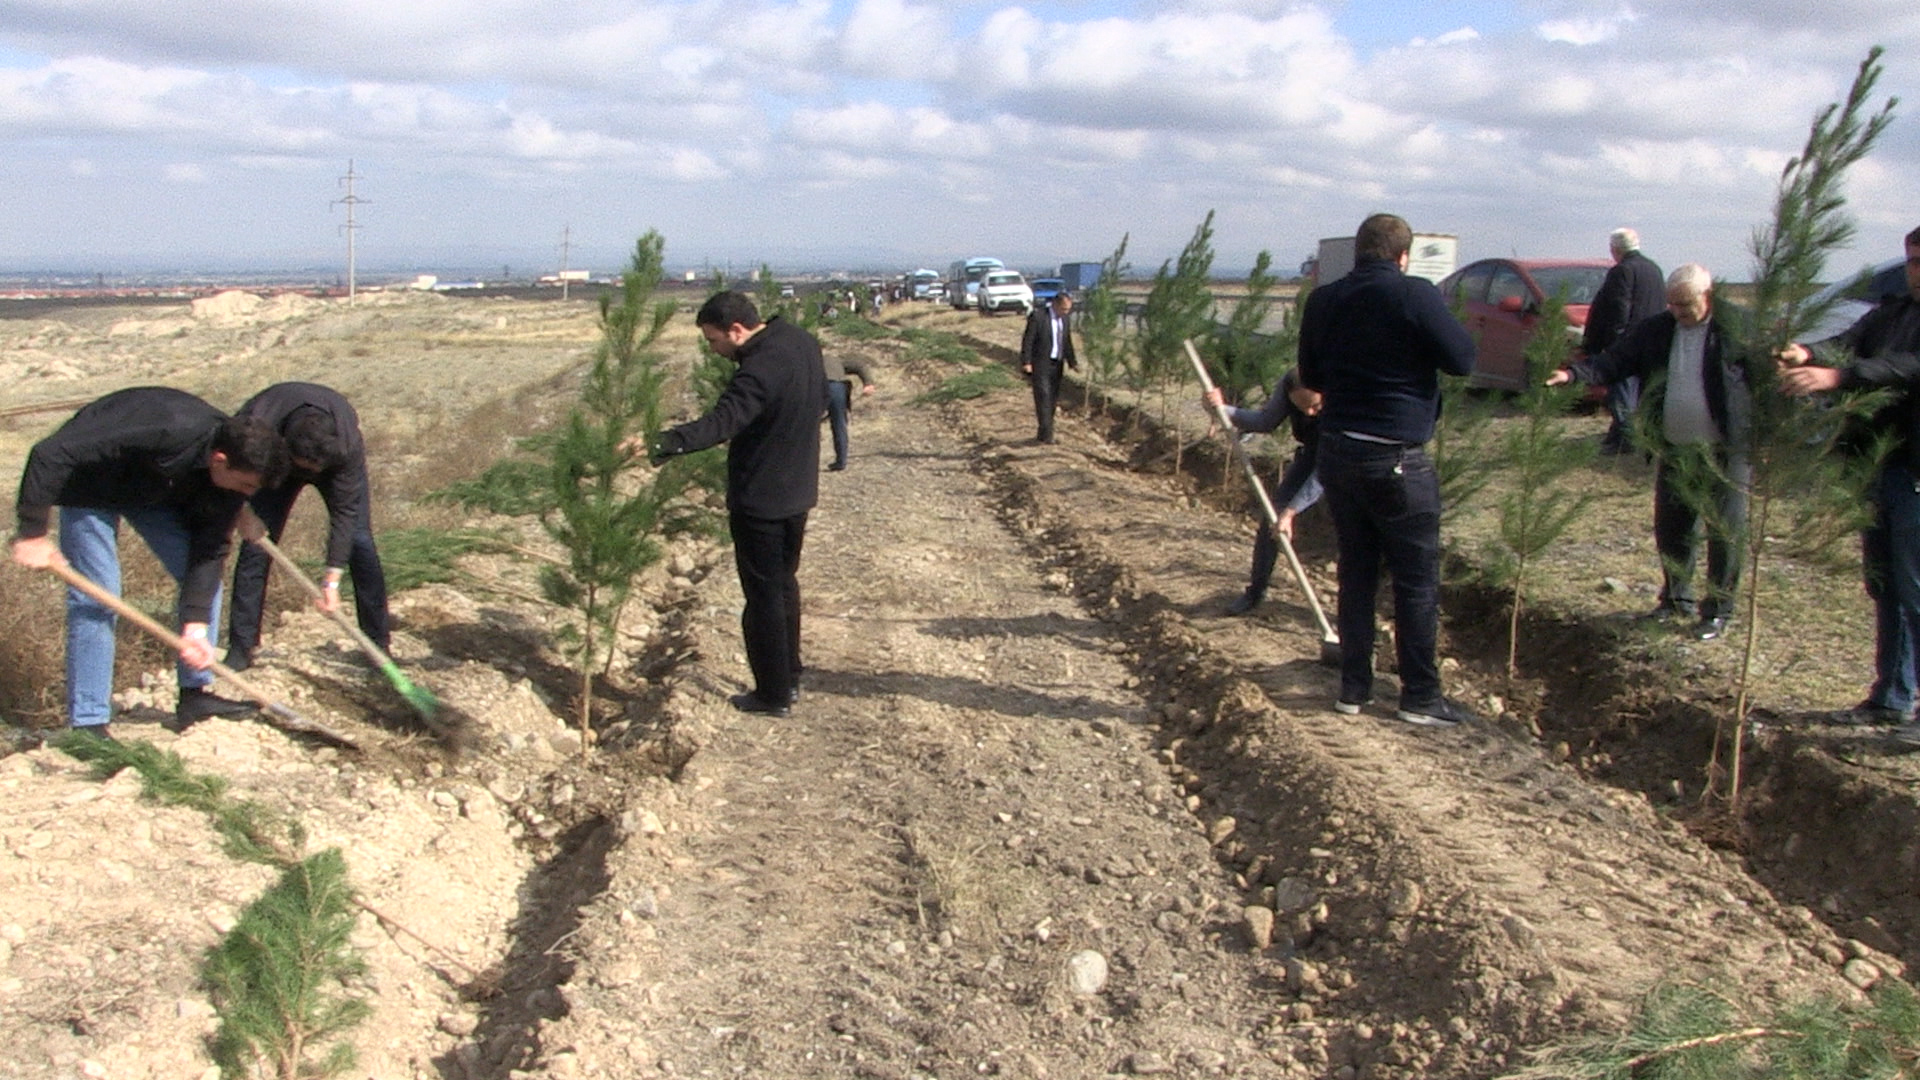
[[[1826,258],[1853,240],[1853,221],[1845,213],[1841,181],[1893,121],[1895,98],[1870,111],[1868,98],[1880,81],[1880,48],[1868,52],[1843,102],[1820,110],[1807,135],[1807,146],[1780,173],[1772,221],[1753,236],[1753,302],[1745,311],[1715,306],[1728,348],[1738,350],[1749,394],[1736,415],[1743,430],[1734,432],[1747,448],[1751,480],[1747,486],[1745,573],[1738,609],[1745,623],[1736,675],[1734,715],[1715,732],[1709,761],[1709,796],[1722,796],[1730,813],[1740,807],[1741,749],[1745,715],[1753,690],[1753,661],[1761,630],[1763,567],[1776,552],[1816,553],[1857,530],[1866,519],[1868,480],[1878,467],[1874,455],[1836,452],[1841,417],[1872,409],[1870,396],[1841,402],[1839,407],[1789,398],[1778,388],[1774,356],[1809,327],[1820,311],[1809,298],[1826,271]],[[1713,482],[1728,482],[1715,461],[1701,455],[1678,457],[1672,477],[1690,502],[1713,521],[1715,500],[1699,498]],[[1740,523],[1716,523],[1722,528]],[[1732,730],[1732,738],[1728,738]],[[1720,755],[1726,753],[1726,765]],[[1724,788],[1720,782],[1724,780]]]

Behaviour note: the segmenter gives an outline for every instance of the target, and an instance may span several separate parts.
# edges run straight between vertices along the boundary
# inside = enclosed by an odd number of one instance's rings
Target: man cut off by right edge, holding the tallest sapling
[[[1866,594],[1874,600],[1874,686],[1834,715],[1843,724],[1899,724],[1895,738],[1920,746],[1914,723],[1920,667],[1920,229],[1907,234],[1907,296],[1860,315],[1836,338],[1780,352],[1788,394],[1887,388],[1899,396],[1872,427],[1893,438],[1874,482],[1874,523],[1860,534]]]

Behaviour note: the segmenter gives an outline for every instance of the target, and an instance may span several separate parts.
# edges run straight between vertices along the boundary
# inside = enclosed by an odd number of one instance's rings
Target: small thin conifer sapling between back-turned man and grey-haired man
[[[1488,577],[1513,596],[1507,609],[1509,680],[1519,673],[1521,605],[1540,573],[1540,557],[1592,502],[1590,492],[1565,484],[1567,475],[1590,463],[1597,450],[1565,430],[1563,419],[1582,388],[1546,384],[1572,352],[1567,327],[1565,300],[1549,298],[1523,352],[1526,390],[1519,396],[1521,415],[1500,448],[1511,486],[1500,498],[1500,548],[1488,559]]]

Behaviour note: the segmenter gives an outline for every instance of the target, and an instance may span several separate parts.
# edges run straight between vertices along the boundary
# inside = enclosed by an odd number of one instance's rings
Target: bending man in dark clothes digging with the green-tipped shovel
[[[390,644],[386,573],[372,544],[372,500],[367,490],[367,444],[353,405],[338,392],[313,382],[267,386],[240,405],[242,417],[259,417],[286,440],[292,471],[286,482],[261,488],[248,500],[278,544],[300,490],[313,484],[326,503],[326,571],[321,609],[340,609],[340,578],[353,575],[353,613],[361,630],[382,650]],[[255,544],[242,544],[234,561],[234,600],[227,630],[227,667],[246,671],[259,648],[261,611],[273,559]]]

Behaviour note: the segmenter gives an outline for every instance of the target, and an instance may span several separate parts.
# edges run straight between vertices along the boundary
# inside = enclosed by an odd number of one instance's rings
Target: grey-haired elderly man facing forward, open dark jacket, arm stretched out
[[[1753,479],[1747,373],[1732,348],[1713,317],[1713,275],[1688,263],[1667,279],[1667,311],[1642,319],[1605,352],[1548,377],[1548,386],[1574,379],[1607,386],[1634,377],[1645,380],[1642,434],[1659,444],[1653,546],[1661,553],[1663,582],[1659,607],[1647,617],[1697,615],[1693,636],[1703,642],[1726,634],[1734,615]],[[1707,596],[1695,607],[1693,550],[1701,525]]]

